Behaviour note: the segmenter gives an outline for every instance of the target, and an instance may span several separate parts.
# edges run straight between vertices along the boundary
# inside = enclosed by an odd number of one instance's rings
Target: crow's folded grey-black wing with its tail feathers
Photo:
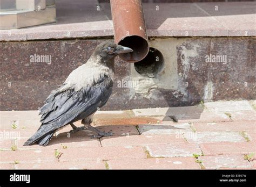
[[[93,85],[79,91],[68,89],[51,93],[41,108],[42,125],[25,145],[31,145],[66,124],[90,116],[107,102],[112,93],[112,87],[111,78],[104,75]]]

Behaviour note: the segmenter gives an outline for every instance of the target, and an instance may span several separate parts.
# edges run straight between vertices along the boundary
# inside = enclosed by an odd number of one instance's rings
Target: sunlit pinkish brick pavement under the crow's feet
[[[0,169],[256,169],[256,100],[99,111],[96,127],[113,136],[66,126],[46,147],[23,147],[37,114],[0,112]]]

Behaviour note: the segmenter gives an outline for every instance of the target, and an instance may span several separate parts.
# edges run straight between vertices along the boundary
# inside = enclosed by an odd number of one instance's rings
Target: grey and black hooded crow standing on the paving
[[[24,146],[38,143],[48,145],[52,135],[65,125],[73,128],[71,133],[87,128],[95,131],[99,137],[110,136],[92,127],[93,114],[104,106],[112,93],[114,75],[114,57],[130,53],[132,49],[110,41],[99,44],[90,59],[73,70],[57,90],[50,93],[40,109],[41,126]],[[73,123],[82,120],[82,127]]]

